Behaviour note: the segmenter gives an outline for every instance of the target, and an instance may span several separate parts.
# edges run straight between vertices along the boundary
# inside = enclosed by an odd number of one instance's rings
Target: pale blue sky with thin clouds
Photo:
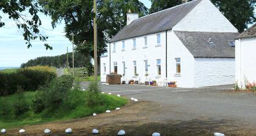
[[[149,0],[140,0],[146,7],[150,7]],[[40,32],[49,36],[47,41],[53,47],[53,50],[46,50],[43,42],[37,40],[32,41],[32,47],[27,49],[26,41],[24,41],[22,33],[16,28],[15,22],[10,20],[8,16],[0,12],[5,22],[5,26],[0,28],[0,67],[19,67],[22,63],[26,63],[30,59],[39,56],[55,56],[66,53],[66,47],[69,52],[72,50],[72,42],[65,38],[64,24],[57,25],[52,29],[51,18],[43,14],[40,15],[42,26]]]

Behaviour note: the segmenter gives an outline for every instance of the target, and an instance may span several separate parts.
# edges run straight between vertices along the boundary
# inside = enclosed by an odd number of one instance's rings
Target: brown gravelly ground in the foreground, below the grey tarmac
[[[226,135],[254,135],[253,128],[247,129],[235,126],[231,120],[213,120],[211,118],[197,118],[194,120],[158,120],[160,104],[140,101],[129,103],[118,111],[109,114],[98,114],[97,117],[86,117],[76,120],[44,123],[34,126],[24,126],[24,135],[43,135],[44,129],[51,129],[51,135],[66,135],[65,129],[71,127],[73,134],[92,135],[92,129],[99,130],[99,135],[116,135],[124,129],[127,135],[151,135],[160,132],[162,135],[213,135],[214,132],[224,132]],[[8,130],[8,135],[18,135],[21,128]]]

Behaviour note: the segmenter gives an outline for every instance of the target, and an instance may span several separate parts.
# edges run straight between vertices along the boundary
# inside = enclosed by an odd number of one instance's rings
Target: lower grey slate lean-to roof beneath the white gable
[[[234,58],[235,47],[228,41],[235,41],[239,33],[221,32],[174,32],[194,58]],[[212,38],[212,42],[208,42]]]

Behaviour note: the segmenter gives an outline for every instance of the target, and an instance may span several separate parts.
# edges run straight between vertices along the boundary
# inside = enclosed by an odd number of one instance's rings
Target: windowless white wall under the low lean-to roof
[[[235,83],[235,58],[195,58],[194,87]]]

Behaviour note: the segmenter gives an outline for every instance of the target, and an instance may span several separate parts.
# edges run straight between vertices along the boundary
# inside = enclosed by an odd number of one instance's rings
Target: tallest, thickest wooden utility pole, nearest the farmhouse
[[[94,80],[98,82],[98,57],[97,57],[97,41],[98,41],[98,34],[97,34],[97,5],[96,0],[93,0],[93,29],[94,29]]]

